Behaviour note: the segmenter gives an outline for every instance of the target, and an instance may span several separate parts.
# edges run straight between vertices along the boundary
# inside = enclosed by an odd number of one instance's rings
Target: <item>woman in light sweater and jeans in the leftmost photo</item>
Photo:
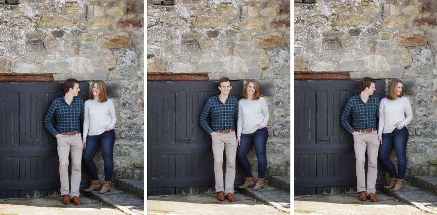
[[[93,89],[85,101],[84,135],[82,140],[84,153],[82,155],[89,175],[91,186],[85,189],[86,192],[98,190],[99,193],[106,193],[111,190],[111,178],[114,173],[114,126],[117,121],[114,103],[106,95],[106,85],[102,81],[95,81]],[[104,162],[105,180],[103,187],[97,175],[97,167],[94,163],[94,155],[101,147],[101,154]]]

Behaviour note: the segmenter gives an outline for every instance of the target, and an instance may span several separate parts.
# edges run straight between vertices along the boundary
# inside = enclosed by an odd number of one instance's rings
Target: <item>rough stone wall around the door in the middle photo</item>
[[[258,80],[269,104],[268,166],[290,165],[290,1],[156,2],[147,1],[147,73]]]

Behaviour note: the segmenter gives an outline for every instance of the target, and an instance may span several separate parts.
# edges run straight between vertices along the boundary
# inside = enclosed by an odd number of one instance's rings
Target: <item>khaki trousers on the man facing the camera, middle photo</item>
[[[235,181],[235,156],[236,156],[236,137],[235,131],[213,135],[212,149],[214,153],[214,175],[216,178],[216,192],[224,191],[224,194],[234,194]],[[226,190],[223,189],[223,150],[226,154]]]

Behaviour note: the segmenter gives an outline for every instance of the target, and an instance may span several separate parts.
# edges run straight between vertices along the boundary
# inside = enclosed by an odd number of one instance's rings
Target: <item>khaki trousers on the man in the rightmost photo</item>
[[[355,149],[356,158],[356,188],[358,192],[366,191],[366,174],[364,172],[364,163],[366,162],[367,150],[367,195],[375,194],[376,177],[378,175],[378,133],[361,133],[353,135],[353,149]]]

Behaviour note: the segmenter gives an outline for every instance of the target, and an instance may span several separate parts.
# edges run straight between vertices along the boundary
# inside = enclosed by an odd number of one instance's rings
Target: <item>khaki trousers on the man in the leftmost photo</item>
[[[82,165],[82,135],[65,135],[58,137],[58,156],[59,156],[59,177],[61,179],[61,195],[68,195],[73,198],[79,197],[79,186],[81,183]],[[71,193],[68,189],[68,154],[71,156]]]

